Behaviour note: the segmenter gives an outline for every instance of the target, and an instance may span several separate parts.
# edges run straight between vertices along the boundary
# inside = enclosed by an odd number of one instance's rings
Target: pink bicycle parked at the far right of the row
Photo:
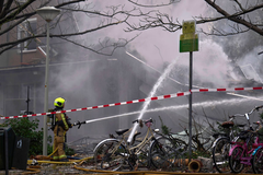
[[[244,116],[249,122],[249,129],[242,131],[239,135],[239,139],[241,142],[231,141],[230,143],[233,145],[229,151],[229,166],[232,173],[240,173],[244,165],[251,165],[252,160],[252,153],[253,151],[259,147],[263,145],[263,143],[260,143],[259,137],[258,137],[258,128],[261,126],[260,121],[254,122],[258,125],[256,130],[253,129],[252,125],[250,124],[250,115],[254,110],[259,110],[263,106],[255,106],[252,110],[249,113],[245,113],[244,115],[235,115],[235,116]],[[254,142],[253,142],[254,140]]]

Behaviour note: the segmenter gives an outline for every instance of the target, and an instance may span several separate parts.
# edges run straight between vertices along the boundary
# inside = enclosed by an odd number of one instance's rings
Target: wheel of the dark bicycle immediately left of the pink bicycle
[[[216,167],[217,172],[219,173],[230,172],[230,167],[228,163],[229,150],[230,150],[230,143],[228,138],[218,139],[211,149],[214,167]]]

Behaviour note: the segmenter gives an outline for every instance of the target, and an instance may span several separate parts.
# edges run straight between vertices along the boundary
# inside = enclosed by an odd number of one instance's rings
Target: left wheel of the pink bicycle
[[[229,156],[229,166],[232,173],[240,173],[243,170],[244,165],[241,163],[243,156],[245,155],[241,147],[233,149],[232,154]]]

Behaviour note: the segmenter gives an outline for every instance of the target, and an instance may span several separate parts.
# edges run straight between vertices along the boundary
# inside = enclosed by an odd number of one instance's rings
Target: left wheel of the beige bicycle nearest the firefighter
[[[95,168],[118,171],[127,156],[127,151],[117,140],[105,140],[94,151]]]

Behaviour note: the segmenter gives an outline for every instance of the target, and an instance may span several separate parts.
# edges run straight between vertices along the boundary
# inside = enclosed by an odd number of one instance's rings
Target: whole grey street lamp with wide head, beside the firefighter
[[[48,110],[48,70],[49,70],[49,23],[60,13],[60,10],[54,7],[44,7],[44,8],[37,9],[36,13],[47,22],[45,103],[44,103],[44,112],[47,113]],[[46,115],[44,116],[43,155],[47,155],[47,116]]]

